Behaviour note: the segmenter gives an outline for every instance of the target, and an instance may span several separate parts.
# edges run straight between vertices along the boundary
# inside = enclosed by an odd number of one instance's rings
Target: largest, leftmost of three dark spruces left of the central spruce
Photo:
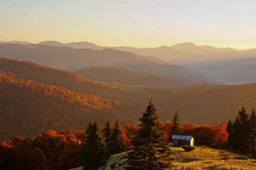
[[[101,167],[105,167],[110,158],[101,130],[97,120],[90,121],[87,125],[85,142],[81,146],[81,159],[84,163],[83,170],[98,170]]]

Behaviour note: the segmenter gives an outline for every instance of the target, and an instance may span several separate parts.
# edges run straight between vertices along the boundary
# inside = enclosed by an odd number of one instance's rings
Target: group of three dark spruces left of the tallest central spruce
[[[81,147],[83,170],[98,170],[105,167],[111,155],[121,153],[123,150],[125,150],[125,140],[117,120],[113,128],[108,119],[104,133],[97,120],[90,121],[86,127],[85,142]]]

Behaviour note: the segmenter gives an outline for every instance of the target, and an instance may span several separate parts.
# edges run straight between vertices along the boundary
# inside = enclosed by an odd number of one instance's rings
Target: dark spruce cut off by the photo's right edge
[[[256,138],[256,111],[253,110],[250,113],[250,142],[252,147],[253,158],[255,158],[255,138]]]

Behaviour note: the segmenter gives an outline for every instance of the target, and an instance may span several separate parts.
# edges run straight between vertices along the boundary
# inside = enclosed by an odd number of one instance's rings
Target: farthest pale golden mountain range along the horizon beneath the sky
[[[15,41],[14,41],[15,42]],[[0,43],[14,43],[0,42]],[[29,42],[17,42],[20,44],[31,44]],[[175,64],[207,62],[212,63],[223,59],[256,57],[256,49],[238,51],[233,48],[216,48],[208,45],[198,46],[191,42],[180,43],[172,46],[161,46],[158,48],[133,48],[133,47],[103,47],[90,42],[71,42],[61,43],[58,41],[44,41],[38,43],[40,45],[51,45],[59,47],[72,48],[92,48],[94,50],[102,50],[105,48],[116,49],[120,51],[128,51],[138,55],[153,56],[166,60]]]

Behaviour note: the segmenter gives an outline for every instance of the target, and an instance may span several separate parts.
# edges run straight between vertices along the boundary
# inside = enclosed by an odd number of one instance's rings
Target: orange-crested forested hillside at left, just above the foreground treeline
[[[5,74],[3,74],[5,75]],[[12,77],[0,76],[0,138],[32,137],[49,129],[81,130],[90,119],[134,122],[138,108]]]

